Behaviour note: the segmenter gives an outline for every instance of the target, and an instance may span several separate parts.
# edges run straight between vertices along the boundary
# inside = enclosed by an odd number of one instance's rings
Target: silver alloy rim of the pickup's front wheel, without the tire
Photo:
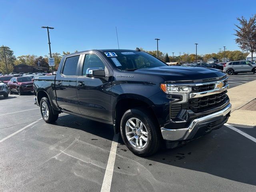
[[[148,130],[138,118],[130,118],[126,122],[125,134],[127,140],[137,149],[142,149],[148,143]]]

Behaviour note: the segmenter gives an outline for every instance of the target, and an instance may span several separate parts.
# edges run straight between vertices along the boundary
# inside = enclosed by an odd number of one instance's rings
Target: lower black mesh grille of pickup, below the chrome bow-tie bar
[[[228,96],[226,93],[227,91],[224,91],[222,93],[214,95],[189,99],[187,109],[190,109],[195,113],[198,113],[221,106],[226,102],[226,100],[228,100]]]

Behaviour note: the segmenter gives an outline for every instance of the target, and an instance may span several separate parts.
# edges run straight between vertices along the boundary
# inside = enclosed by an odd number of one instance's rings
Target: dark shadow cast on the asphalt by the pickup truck
[[[93,134],[95,137],[92,137],[91,140],[98,140],[98,142],[101,139],[112,141],[114,136],[112,125],[73,115],[60,116],[54,124]],[[122,149],[118,153],[120,158],[126,159],[124,164],[126,164],[127,158],[141,162],[141,157],[128,151],[120,135],[118,143],[126,149]],[[100,146],[100,143],[98,145]],[[160,162],[164,166],[170,166],[166,167],[170,171],[172,170],[171,166],[176,166],[256,185],[255,143],[225,126],[183,146],[174,149],[162,149],[153,156],[144,159],[146,160],[146,164],[143,164],[145,167],[154,164],[154,162]],[[196,175],[196,172],[194,174]]]

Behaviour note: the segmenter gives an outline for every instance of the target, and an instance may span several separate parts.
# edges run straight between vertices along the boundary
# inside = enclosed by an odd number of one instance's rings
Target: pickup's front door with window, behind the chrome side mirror
[[[111,79],[103,58],[96,53],[83,57],[80,76],[77,78],[78,108],[82,115],[112,122],[111,118]],[[104,69],[105,77],[91,78],[86,76],[88,69]]]

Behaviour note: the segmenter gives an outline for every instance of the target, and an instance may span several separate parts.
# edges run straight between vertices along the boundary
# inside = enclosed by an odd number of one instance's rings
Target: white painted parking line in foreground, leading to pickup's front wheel
[[[118,137],[119,137],[119,134],[114,134],[111,149],[110,149],[110,154],[108,157],[108,164],[106,167],[104,179],[103,179],[101,190],[100,190],[101,192],[110,192],[114,164],[115,164],[115,160],[116,160],[116,148],[117,148],[117,144],[118,144]]]

